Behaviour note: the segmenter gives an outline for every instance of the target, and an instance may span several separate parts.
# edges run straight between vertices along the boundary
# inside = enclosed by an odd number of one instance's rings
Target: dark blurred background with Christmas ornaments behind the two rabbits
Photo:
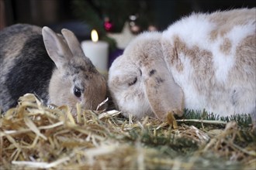
[[[162,31],[191,12],[255,6],[255,0],[0,0],[0,30],[30,23],[55,32],[71,29],[82,41],[96,29],[111,53],[124,49],[138,33]]]

